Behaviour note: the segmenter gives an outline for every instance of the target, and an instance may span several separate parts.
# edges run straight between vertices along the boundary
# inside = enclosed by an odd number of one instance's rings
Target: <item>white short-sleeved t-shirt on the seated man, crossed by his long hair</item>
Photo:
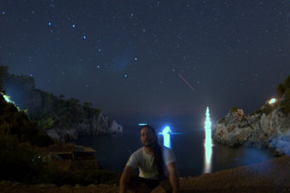
[[[176,161],[172,150],[166,147],[162,147],[163,161],[164,161],[164,175],[169,177],[169,171],[167,165]],[[159,179],[158,170],[154,166],[154,156],[145,152],[144,147],[136,150],[131,154],[130,159],[127,161],[126,166],[130,166],[133,169],[139,168],[139,176],[145,179]]]

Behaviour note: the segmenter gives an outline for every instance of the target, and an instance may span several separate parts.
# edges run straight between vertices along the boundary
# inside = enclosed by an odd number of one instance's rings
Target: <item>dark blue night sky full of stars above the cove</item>
[[[122,125],[251,112],[290,75],[289,0],[0,0],[0,27],[10,73]]]

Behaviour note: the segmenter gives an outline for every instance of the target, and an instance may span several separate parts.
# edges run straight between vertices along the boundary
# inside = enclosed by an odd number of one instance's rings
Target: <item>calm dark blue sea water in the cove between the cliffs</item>
[[[174,130],[179,134],[171,135],[171,149],[177,158],[179,176],[197,176],[205,169],[205,132],[203,129]],[[159,136],[162,144],[162,136]],[[131,153],[141,147],[139,128],[124,128],[123,133],[115,136],[82,137],[73,141],[77,145],[97,150],[99,164],[108,170],[122,171]],[[214,144],[210,161],[210,172],[235,168],[273,158],[271,150],[253,148],[227,148]]]

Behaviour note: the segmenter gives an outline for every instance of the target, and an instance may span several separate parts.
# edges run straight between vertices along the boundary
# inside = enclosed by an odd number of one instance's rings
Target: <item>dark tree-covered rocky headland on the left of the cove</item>
[[[92,108],[92,103],[80,104],[77,99],[65,100],[63,95],[57,97],[36,89],[33,77],[9,74],[7,67],[0,66],[0,79],[10,100],[53,139],[75,140],[80,136],[122,132],[117,121]]]

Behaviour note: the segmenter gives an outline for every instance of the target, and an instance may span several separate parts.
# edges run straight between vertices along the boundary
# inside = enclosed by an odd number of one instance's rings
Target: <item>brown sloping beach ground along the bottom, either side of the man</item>
[[[290,157],[283,156],[198,177],[180,178],[180,188],[181,192],[290,192]],[[116,193],[118,186],[101,184],[56,187],[53,184],[23,185],[2,181],[0,192]]]

